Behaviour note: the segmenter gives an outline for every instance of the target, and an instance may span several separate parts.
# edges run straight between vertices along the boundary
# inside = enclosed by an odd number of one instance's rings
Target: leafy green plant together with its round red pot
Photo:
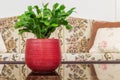
[[[65,6],[58,3],[49,9],[47,3],[43,4],[42,8],[38,5],[28,6],[28,10],[18,16],[14,27],[19,29],[19,34],[30,32],[36,36],[36,39],[27,39],[25,49],[25,61],[32,71],[50,72],[59,66],[61,62],[59,39],[49,37],[61,25],[67,29],[71,28],[66,18],[74,9],[65,11]]]

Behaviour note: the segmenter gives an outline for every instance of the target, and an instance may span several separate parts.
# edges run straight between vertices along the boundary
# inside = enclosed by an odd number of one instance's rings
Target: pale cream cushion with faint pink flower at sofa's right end
[[[120,53],[120,28],[100,28],[90,52]]]

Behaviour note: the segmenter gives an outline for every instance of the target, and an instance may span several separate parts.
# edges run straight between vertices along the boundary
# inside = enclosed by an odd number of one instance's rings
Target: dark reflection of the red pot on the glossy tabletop
[[[51,73],[34,73],[31,72],[26,80],[61,80],[57,72]]]

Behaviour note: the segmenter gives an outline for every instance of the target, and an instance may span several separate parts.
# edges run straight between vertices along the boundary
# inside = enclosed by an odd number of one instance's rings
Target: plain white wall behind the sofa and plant
[[[23,13],[28,5],[39,5],[49,2],[59,2],[67,9],[76,7],[73,17],[116,21],[120,20],[120,0],[1,0],[0,18],[16,16]]]

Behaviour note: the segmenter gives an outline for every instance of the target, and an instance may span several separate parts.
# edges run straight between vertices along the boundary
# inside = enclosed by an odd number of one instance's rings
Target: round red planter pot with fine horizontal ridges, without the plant
[[[58,39],[27,39],[25,61],[33,72],[51,72],[61,63]]]

